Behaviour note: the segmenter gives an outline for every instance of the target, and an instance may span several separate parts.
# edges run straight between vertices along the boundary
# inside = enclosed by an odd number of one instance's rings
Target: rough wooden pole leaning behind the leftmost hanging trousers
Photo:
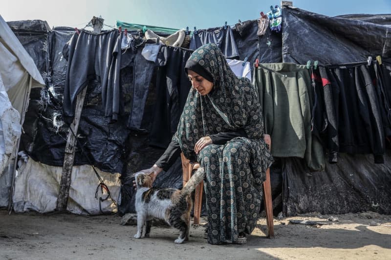
[[[100,33],[102,31],[103,21],[104,19],[97,18],[95,16],[92,18],[91,23],[94,26],[94,33]],[[57,211],[66,211],[66,206],[68,204],[70,180],[76,148],[76,138],[74,137],[73,133],[77,135],[77,130],[79,128],[79,122],[83,110],[84,99],[86,98],[86,92],[87,86],[83,89],[82,92],[77,95],[75,118],[70,125],[70,129],[68,130],[68,138],[65,146],[63,172],[61,175],[60,190],[57,198]]]

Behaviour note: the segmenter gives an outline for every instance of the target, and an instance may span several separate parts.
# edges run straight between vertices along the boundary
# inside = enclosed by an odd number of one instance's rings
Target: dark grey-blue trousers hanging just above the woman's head
[[[239,58],[238,48],[232,34],[231,26],[196,30],[190,41],[190,49],[195,50],[207,43],[216,43],[223,52],[225,58]]]

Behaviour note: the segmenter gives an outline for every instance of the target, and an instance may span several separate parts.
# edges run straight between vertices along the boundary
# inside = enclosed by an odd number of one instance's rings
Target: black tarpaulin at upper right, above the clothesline
[[[282,60],[306,64],[360,62],[391,56],[390,15],[327,17],[299,8],[282,8]],[[349,18],[349,19],[348,19]],[[381,24],[376,24],[380,22]],[[299,37],[298,37],[299,36]]]

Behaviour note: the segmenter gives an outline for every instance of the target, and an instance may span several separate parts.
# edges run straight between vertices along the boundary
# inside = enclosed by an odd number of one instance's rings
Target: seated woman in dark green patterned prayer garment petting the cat
[[[208,242],[245,243],[260,211],[272,157],[263,140],[263,117],[254,86],[238,78],[216,44],[196,49],[185,70],[192,88],[177,132],[148,170],[154,178],[182,151],[205,168]]]

